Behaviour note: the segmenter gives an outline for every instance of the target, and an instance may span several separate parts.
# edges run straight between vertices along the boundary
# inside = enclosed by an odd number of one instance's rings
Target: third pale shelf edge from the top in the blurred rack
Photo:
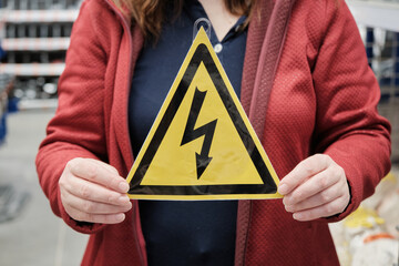
[[[0,73],[20,76],[58,76],[64,68],[64,63],[3,63],[0,65]]]

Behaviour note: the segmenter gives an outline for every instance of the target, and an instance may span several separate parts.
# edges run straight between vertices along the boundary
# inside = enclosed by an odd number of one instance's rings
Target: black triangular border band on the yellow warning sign
[[[204,63],[215,88],[241,136],[248,155],[250,156],[264,184],[237,184],[237,185],[197,185],[197,186],[165,186],[165,185],[140,185],[151,162],[160,147],[168,126],[171,125],[180,104],[182,103],[188,86],[201,64]],[[229,194],[275,194],[277,185],[274,182],[262,155],[252,139],[247,126],[241,116],[236,104],[229,94],[227,86],[211,55],[209,50],[203,43],[196,48],[183,78],[145,151],[137,170],[135,171],[127,194],[132,195],[229,195]]]

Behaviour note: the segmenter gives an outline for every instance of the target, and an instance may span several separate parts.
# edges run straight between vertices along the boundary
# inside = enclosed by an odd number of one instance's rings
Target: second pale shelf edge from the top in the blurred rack
[[[6,51],[60,51],[66,50],[70,38],[18,38],[3,39]]]

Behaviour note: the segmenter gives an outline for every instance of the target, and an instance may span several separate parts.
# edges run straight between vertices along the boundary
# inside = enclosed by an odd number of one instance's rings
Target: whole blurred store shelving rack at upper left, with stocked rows
[[[57,106],[52,99],[82,0],[0,2],[0,38],[7,51],[0,73],[14,76],[9,96],[16,110]]]

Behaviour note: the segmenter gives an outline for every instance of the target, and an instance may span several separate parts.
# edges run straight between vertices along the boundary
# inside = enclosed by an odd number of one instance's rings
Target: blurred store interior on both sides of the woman
[[[348,0],[392,124],[392,171],[330,226],[342,266],[399,266],[399,0]],[[79,265],[88,237],[50,211],[34,156],[81,0],[0,0],[0,265]]]

